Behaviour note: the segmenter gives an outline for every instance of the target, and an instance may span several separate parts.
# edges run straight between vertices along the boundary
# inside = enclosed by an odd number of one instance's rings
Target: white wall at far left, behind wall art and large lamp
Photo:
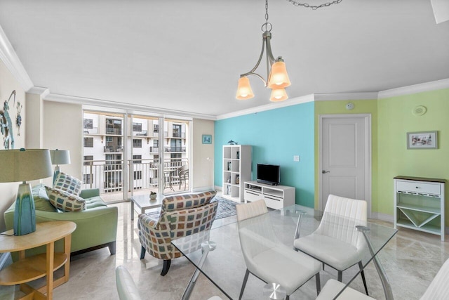
[[[15,117],[17,117],[17,103],[20,102],[23,105],[21,114],[22,115],[22,126],[20,131],[18,131],[17,126],[13,126],[13,136],[15,140],[15,149],[25,148],[25,126],[27,126],[26,122],[26,110],[25,110],[25,91],[20,86],[19,82],[15,80],[11,72],[9,72],[8,68],[4,63],[0,60],[0,112],[3,114],[3,103],[8,100],[11,92],[15,90],[15,103],[13,100],[9,103],[9,114],[11,116],[11,120],[15,124]],[[20,136],[18,133],[20,132]],[[2,135],[3,136],[3,135]],[[4,150],[3,138],[0,138],[0,150]],[[1,162],[0,162],[0,171],[1,170]],[[19,183],[0,183],[0,232],[5,230],[5,220],[3,213],[8,209],[8,207],[13,204],[15,200],[15,196],[17,194],[17,190],[19,187]]]

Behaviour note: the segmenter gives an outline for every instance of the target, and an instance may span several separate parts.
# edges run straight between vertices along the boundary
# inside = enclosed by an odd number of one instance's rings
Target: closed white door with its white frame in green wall
[[[370,216],[370,115],[321,115],[320,125],[319,208],[333,194],[366,200]]]

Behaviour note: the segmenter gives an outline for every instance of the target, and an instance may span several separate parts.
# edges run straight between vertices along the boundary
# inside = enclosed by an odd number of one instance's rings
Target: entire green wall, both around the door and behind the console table
[[[345,105],[354,103],[354,110]],[[417,105],[427,107],[421,117]],[[371,114],[372,211],[393,216],[393,177],[444,178],[449,184],[449,89],[380,100],[315,102],[315,170],[319,168],[319,115]],[[438,149],[408,150],[407,132],[438,131]],[[445,197],[449,197],[449,186]],[[319,205],[319,172],[315,172],[315,207]],[[449,207],[446,205],[446,214]],[[449,218],[446,218],[446,225]]]

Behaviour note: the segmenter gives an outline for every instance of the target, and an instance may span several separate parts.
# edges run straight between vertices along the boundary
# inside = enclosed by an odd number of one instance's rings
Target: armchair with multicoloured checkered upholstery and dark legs
[[[156,259],[163,259],[161,275],[166,275],[171,259],[182,256],[171,241],[210,230],[212,227],[218,202],[210,201],[216,193],[215,190],[209,190],[203,193],[165,197],[162,200],[159,218],[140,214],[138,220],[139,240],[142,244],[140,259],[145,257],[145,252]],[[199,249],[201,242],[208,240],[208,234],[201,236],[201,240],[192,240],[188,247],[192,250]]]

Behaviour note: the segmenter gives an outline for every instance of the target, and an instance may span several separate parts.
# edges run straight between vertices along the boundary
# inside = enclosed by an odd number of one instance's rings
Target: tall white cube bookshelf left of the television
[[[251,180],[250,145],[223,146],[223,195],[229,200],[243,202],[245,181]]]

